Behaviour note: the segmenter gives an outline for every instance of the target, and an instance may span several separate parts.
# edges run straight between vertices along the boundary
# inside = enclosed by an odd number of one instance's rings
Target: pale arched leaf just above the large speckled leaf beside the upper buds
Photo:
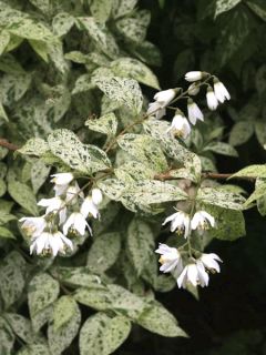
[[[157,78],[145,64],[137,59],[120,58],[111,62],[114,75],[135,79],[136,81],[160,90]]]

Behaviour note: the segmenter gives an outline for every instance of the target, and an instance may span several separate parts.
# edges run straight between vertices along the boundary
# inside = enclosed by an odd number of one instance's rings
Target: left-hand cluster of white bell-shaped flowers
[[[84,197],[72,173],[52,175],[54,197],[42,199],[38,205],[45,207],[40,217],[23,217],[21,229],[31,236],[30,253],[55,256],[64,254],[66,247],[73,250],[72,241],[66,235],[84,235],[85,230],[92,234],[86,222],[88,216],[100,219],[98,205],[102,202],[102,192],[92,189]],[[61,231],[59,231],[61,229]]]

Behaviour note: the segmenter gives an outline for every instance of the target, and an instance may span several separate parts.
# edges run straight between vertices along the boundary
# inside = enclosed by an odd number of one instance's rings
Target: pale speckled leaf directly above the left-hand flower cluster
[[[110,166],[106,154],[96,146],[83,144],[69,130],[55,130],[48,138],[52,153],[70,168],[83,173],[93,173]]]

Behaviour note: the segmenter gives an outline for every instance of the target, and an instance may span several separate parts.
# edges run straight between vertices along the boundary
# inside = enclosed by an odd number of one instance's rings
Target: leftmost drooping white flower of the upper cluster
[[[174,89],[158,91],[153,98],[155,102],[149,104],[147,114],[161,119],[165,114],[165,106],[174,99],[175,94]]]

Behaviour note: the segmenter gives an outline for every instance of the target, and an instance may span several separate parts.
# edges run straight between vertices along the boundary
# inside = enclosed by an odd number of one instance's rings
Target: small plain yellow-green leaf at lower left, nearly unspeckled
[[[53,308],[53,329],[59,328],[70,322],[76,312],[76,303],[71,296],[61,296]]]

